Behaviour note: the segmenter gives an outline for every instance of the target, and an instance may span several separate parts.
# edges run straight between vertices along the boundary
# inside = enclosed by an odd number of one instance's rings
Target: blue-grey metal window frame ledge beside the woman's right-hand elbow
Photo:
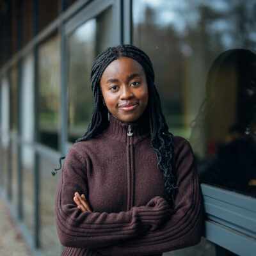
[[[204,237],[239,255],[256,252],[256,198],[201,184]]]

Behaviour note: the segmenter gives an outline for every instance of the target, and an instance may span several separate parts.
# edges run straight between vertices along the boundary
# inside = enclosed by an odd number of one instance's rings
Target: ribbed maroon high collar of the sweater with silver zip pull
[[[129,127],[131,128],[131,136],[128,136]],[[110,114],[109,127],[106,130],[106,135],[109,138],[115,138],[116,140],[124,143],[127,141],[130,141],[130,143],[131,141],[132,143],[138,143],[150,135],[149,131],[149,118],[148,111],[146,110],[138,120],[131,123],[124,123]]]

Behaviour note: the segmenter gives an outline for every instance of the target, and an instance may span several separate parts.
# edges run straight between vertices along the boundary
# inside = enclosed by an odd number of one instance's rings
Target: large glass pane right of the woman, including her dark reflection
[[[228,51],[255,49],[255,1],[132,4],[133,44],[152,60],[170,131],[190,141],[200,179],[255,195],[255,54]]]

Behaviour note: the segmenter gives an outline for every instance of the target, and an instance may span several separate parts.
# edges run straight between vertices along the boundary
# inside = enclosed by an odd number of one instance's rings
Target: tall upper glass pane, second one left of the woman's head
[[[58,149],[60,40],[52,36],[38,48],[38,141]]]

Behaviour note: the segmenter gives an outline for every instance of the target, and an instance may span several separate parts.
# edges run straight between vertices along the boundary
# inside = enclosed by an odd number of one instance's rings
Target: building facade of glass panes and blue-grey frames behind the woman
[[[2,0],[0,8],[0,191],[33,254],[60,255],[60,172],[51,171],[86,131],[95,57],[119,44],[150,56],[170,132],[189,140],[198,165],[204,238],[166,255],[255,254],[255,1]]]

